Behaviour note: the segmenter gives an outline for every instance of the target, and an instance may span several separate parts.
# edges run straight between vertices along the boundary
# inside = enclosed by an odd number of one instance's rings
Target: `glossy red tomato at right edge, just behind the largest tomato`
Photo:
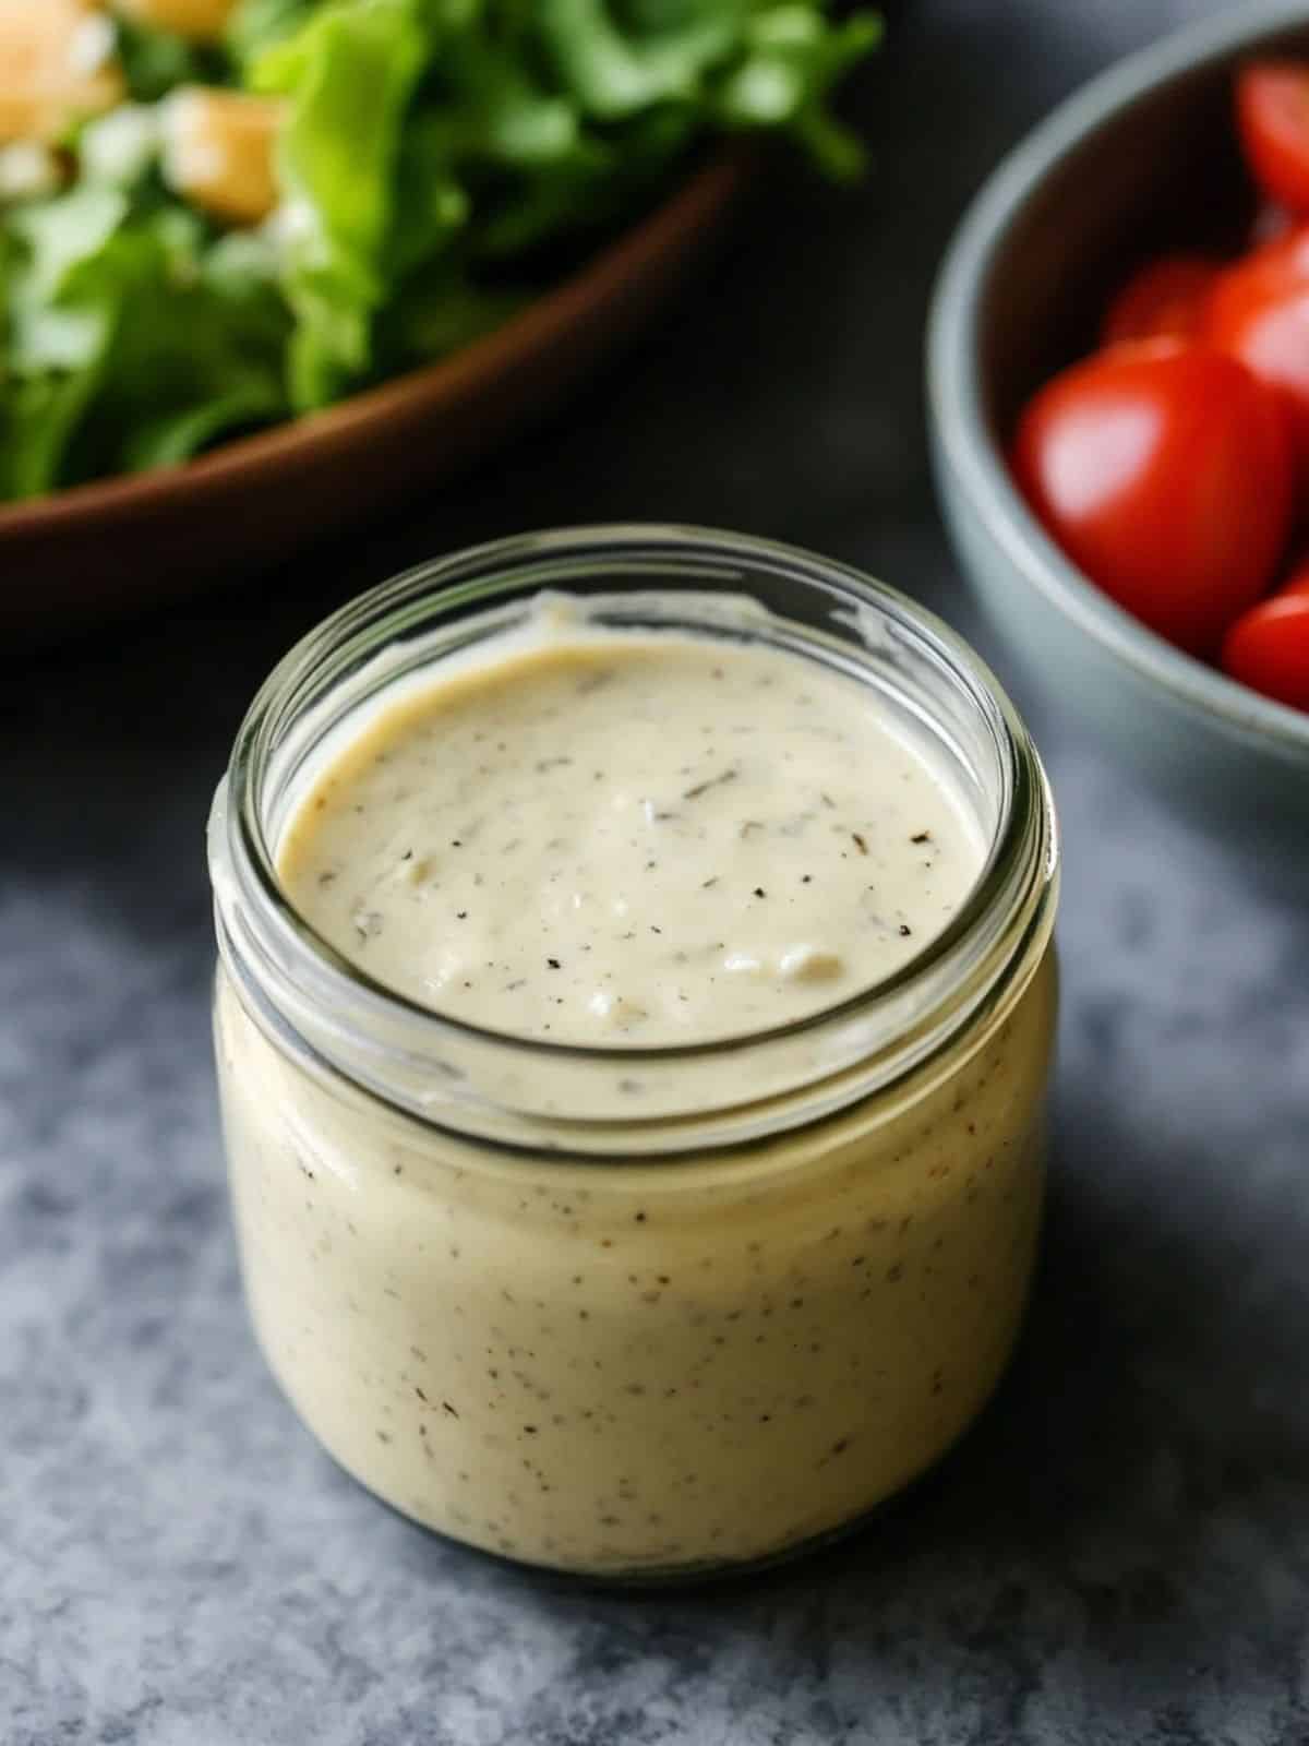
[[[1309,227],[1265,243],[1218,274],[1201,337],[1285,393],[1309,477]]]

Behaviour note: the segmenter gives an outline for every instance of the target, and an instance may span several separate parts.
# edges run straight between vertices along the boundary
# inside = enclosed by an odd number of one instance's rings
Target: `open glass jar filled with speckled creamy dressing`
[[[269,677],[209,861],[255,1330],[386,1502],[689,1577],[977,1414],[1040,1222],[1056,829],[930,615],[700,531],[426,566]]]

